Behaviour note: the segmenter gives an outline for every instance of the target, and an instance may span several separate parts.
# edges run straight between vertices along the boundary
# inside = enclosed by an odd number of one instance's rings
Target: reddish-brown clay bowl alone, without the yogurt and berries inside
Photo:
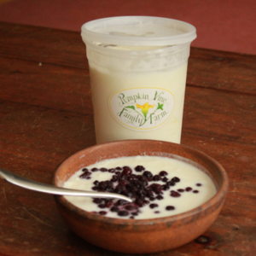
[[[201,236],[218,217],[228,191],[224,168],[207,154],[180,144],[153,140],[127,140],[85,148],[62,162],[55,172],[54,184],[62,184],[84,166],[121,156],[159,155],[194,161],[207,169],[217,194],[201,207],[166,218],[120,219],[85,212],[63,196],[55,196],[62,218],[78,236],[98,247],[120,253],[158,253],[180,247]],[[184,160],[184,159],[183,159]]]

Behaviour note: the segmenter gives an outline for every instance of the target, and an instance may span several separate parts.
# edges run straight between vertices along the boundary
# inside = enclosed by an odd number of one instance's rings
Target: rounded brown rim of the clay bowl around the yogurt
[[[58,201],[59,203],[61,203],[62,206],[67,207],[67,209],[75,214],[79,214],[80,217],[82,218],[89,218],[92,221],[100,221],[102,223],[105,224],[117,224],[117,225],[121,225],[121,226],[131,226],[135,225],[135,226],[144,226],[144,225],[152,225],[152,224],[166,224],[166,223],[174,223],[176,221],[180,221],[182,220],[183,223],[186,222],[190,222],[191,220],[189,220],[192,216],[198,215],[198,218],[201,217],[202,214],[201,211],[205,210],[205,212],[207,212],[207,210],[209,210],[212,206],[220,206],[223,202],[224,199],[228,193],[228,189],[229,189],[229,179],[228,179],[228,175],[227,172],[224,170],[224,167],[221,166],[217,160],[214,160],[211,156],[203,153],[202,151],[183,145],[183,144],[177,144],[177,143],[169,143],[169,142],[164,142],[164,141],[154,141],[154,140],[122,140],[122,141],[115,141],[115,142],[111,142],[111,143],[102,143],[102,144],[96,144],[93,145],[91,147],[88,148],[84,148],[82,150],[79,150],[78,152],[76,152],[75,154],[70,155],[69,157],[67,157],[67,159],[63,160],[61,162],[61,164],[59,166],[57,166],[57,168],[55,169],[55,172],[53,174],[53,178],[52,178],[52,183],[55,186],[57,185],[57,178],[56,178],[56,174],[57,172],[65,165],[67,165],[67,161],[72,160],[76,157],[78,157],[81,154],[84,154],[84,152],[86,151],[90,151],[90,150],[94,150],[95,148],[101,148],[101,147],[106,147],[106,145],[115,145],[117,143],[137,143],[137,142],[149,142],[149,143],[168,143],[170,144],[170,146],[172,147],[180,147],[180,148],[185,148],[186,150],[189,150],[190,153],[194,153],[197,155],[200,155],[201,157],[203,157],[204,159],[206,159],[209,162],[212,162],[212,164],[214,166],[217,167],[220,177],[222,179],[222,183],[218,188],[218,191],[215,195],[212,196],[212,198],[208,201],[206,201],[205,203],[201,204],[201,206],[199,207],[195,207],[187,212],[182,212],[182,213],[178,213],[176,215],[172,215],[172,216],[167,216],[167,217],[161,217],[161,218],[145,218],[145,219],[130,219],[130,218],[109,218],[109,217],[105,217],[102,215],[98,215],[96,213],[93,212],[87,212],[79,207],[74,206],[70,201],[67,201],[67,199],[63,196],[63,195],[54,195],[55,196],[55,201]],[[182,156],[180,154],[174,154],[177,156]],[[125,155],[124,155],[125,156]],[[183,157],[183,156],[182,156]],[[183,157],[185,158],[185,157]],[[189,159],[189,158],[187,158]],[[190,159],[189,159],[190,160]],[[193,160],[195,161],[195,160]],[[196,161],[195,161],[196,163]],[[78,170],[79,171],[79,170]],[[187,219],[187,221],[186,221]],[[192,218],[193,221],[195,220],[195,218]]]

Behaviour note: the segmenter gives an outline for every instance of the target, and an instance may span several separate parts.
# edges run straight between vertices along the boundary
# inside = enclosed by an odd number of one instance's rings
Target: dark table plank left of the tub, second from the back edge
[[[0,57],[0,99],[92,114],[88,70]]]

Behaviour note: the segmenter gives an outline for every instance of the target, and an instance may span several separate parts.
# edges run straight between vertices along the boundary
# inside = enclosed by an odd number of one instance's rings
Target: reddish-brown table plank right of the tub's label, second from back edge
[[[253,95],[188,87],[183,131],[222,143],[256,145],[256,101]]]

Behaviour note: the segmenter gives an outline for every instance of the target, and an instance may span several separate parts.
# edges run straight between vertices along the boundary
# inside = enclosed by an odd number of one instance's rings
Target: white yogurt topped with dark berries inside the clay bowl
[[[110,218],[162,218],[188,212],[216,194],[212,178],[205,168],[200,167],[168,157],[120,157],[84,166],[63,187],[113,192],[133,199],[129,203],[66,196],[84,211]]]

